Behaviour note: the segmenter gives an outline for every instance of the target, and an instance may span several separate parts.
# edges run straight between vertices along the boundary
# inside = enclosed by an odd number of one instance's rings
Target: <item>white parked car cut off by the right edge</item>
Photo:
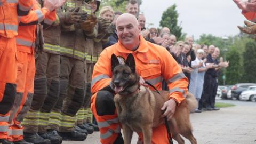
[[[256,101],[256,86],[249,86],[239,95],[240,100]]]

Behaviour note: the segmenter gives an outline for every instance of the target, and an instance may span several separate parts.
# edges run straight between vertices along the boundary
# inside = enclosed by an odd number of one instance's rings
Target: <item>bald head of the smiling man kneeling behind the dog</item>
[[[134,51],[140,44],[140,26],[136,17],[129,13],[120,15],[116,20],[117,35],[126,49]]]

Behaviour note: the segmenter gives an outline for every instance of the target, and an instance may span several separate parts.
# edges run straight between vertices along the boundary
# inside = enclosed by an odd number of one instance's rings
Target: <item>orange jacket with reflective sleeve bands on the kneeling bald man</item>
[[[136,71],[145,81],[162,90],[162,81],[165,79],[169,87],[169,97],[177,103],[185,99],[188,79],[182,73],[181,67],[164,47],[150,43],[142,36],[140,36],[140,45],[135,51],[127,50],[120,41],[103,50],[94,66],[92,93],[100,91],[111,82],[110,59],[113,53],[119,62],[125,61],[128,54],[133,54]],[[94,97],[95,95],[92,99]]]

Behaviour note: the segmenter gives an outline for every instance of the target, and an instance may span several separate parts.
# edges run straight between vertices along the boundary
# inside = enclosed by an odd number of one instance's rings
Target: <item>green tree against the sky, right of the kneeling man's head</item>
[[[176,10],[176,5],[172,5],[167,8],[166,11],[162,14],[162,19],[160,21],[160,26],[167,27],[170,29],[171,33],[180,39],[182,35],[182,28],[178,26],[178,17],[179,14]]]

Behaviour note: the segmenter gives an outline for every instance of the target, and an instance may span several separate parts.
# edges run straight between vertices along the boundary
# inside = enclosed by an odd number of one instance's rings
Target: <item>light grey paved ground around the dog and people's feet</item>
[[[194,135],[199,144],[256,144],[256,102],[218,100],[234,103],[235,107],[221,108],[219,111],[205,111],[190,114]],[[136,143],[137,134],[132,143]],[[85,141],[64,141],[63,144],[97,144],[99,133],[95,132]],[[177,143],[177,142],[175,142]],[[186,143],[190,143],[186,140]]]

